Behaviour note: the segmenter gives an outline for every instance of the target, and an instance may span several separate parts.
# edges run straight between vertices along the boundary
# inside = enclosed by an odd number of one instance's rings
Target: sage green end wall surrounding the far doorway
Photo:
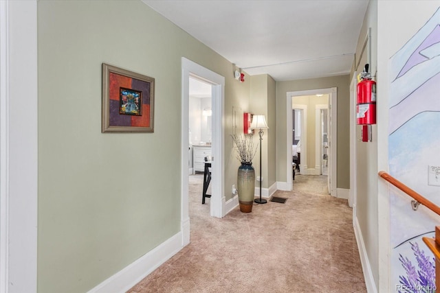
[[[308,80],[291,80],[276,83],[276,180],[287,181],[287,109],[286,99],[289,91],[338,88],[338,188],[350,188],[350,133],[349,133],[349,75]],[[308,156],[308,155],[307,155]]]

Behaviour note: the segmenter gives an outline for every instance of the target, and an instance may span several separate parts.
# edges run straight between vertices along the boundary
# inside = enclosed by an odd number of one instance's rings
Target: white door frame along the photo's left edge
[[[36,24],[36,0],[0,1],[0,293],[36,292]]]

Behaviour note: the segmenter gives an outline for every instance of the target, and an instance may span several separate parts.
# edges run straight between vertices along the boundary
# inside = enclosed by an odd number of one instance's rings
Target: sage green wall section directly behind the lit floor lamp
[[[269,188],[276,183],[276,103],[275,103],[275,80],[267,74],[251,76],[251,112],[255,115],[265,115],[269,129],[264,130],[263,141],[261,143],[261,158],[263,174],[263,188]],[[260,137],[258,130],[254,132],[254,142],[259,143]],[[260,150],[257,150],[252,165],[255,168],[256,176],[260,176]],[[258,181],[256,187],[260,186]]]

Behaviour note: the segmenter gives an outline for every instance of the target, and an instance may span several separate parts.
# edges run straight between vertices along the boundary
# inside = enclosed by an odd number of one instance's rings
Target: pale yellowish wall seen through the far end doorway
[[[303,164],[307,165],[308,169],[314,169],[317,163],[321,163],[316,162],[316,105],[328,105],[329,95],[293,97],[292,104],[307,105],[307,162],[303,162]],[[321,141],[318,143],[320,144]],[[301,159],[303,158],[301,157]]]

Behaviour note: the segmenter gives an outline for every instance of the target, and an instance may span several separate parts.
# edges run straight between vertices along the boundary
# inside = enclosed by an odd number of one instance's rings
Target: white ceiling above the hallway
[[[250,75],[350,72],[368,0],[142,0]]]

